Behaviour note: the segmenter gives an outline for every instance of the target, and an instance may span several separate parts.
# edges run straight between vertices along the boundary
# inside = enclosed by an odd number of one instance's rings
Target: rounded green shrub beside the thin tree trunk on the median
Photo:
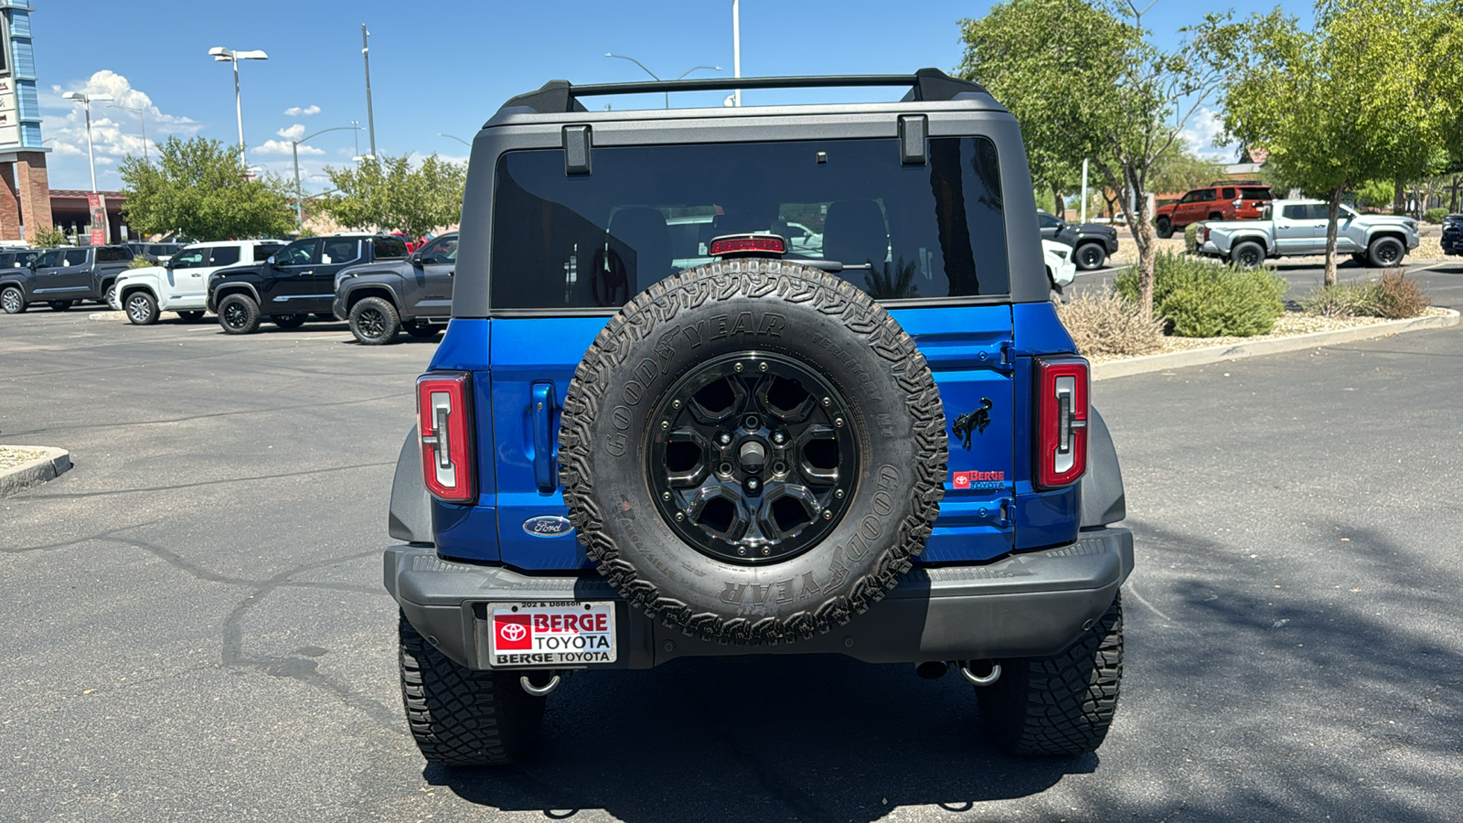
[[[1137,300],[1138,274],[1118,274],[1118,294]],[[1160,253],[1153,265],[1153,313],[1167,318],[1176,337],[1251,337],[1274,328],[1285,313],[1285,278],[1268,269]]]

